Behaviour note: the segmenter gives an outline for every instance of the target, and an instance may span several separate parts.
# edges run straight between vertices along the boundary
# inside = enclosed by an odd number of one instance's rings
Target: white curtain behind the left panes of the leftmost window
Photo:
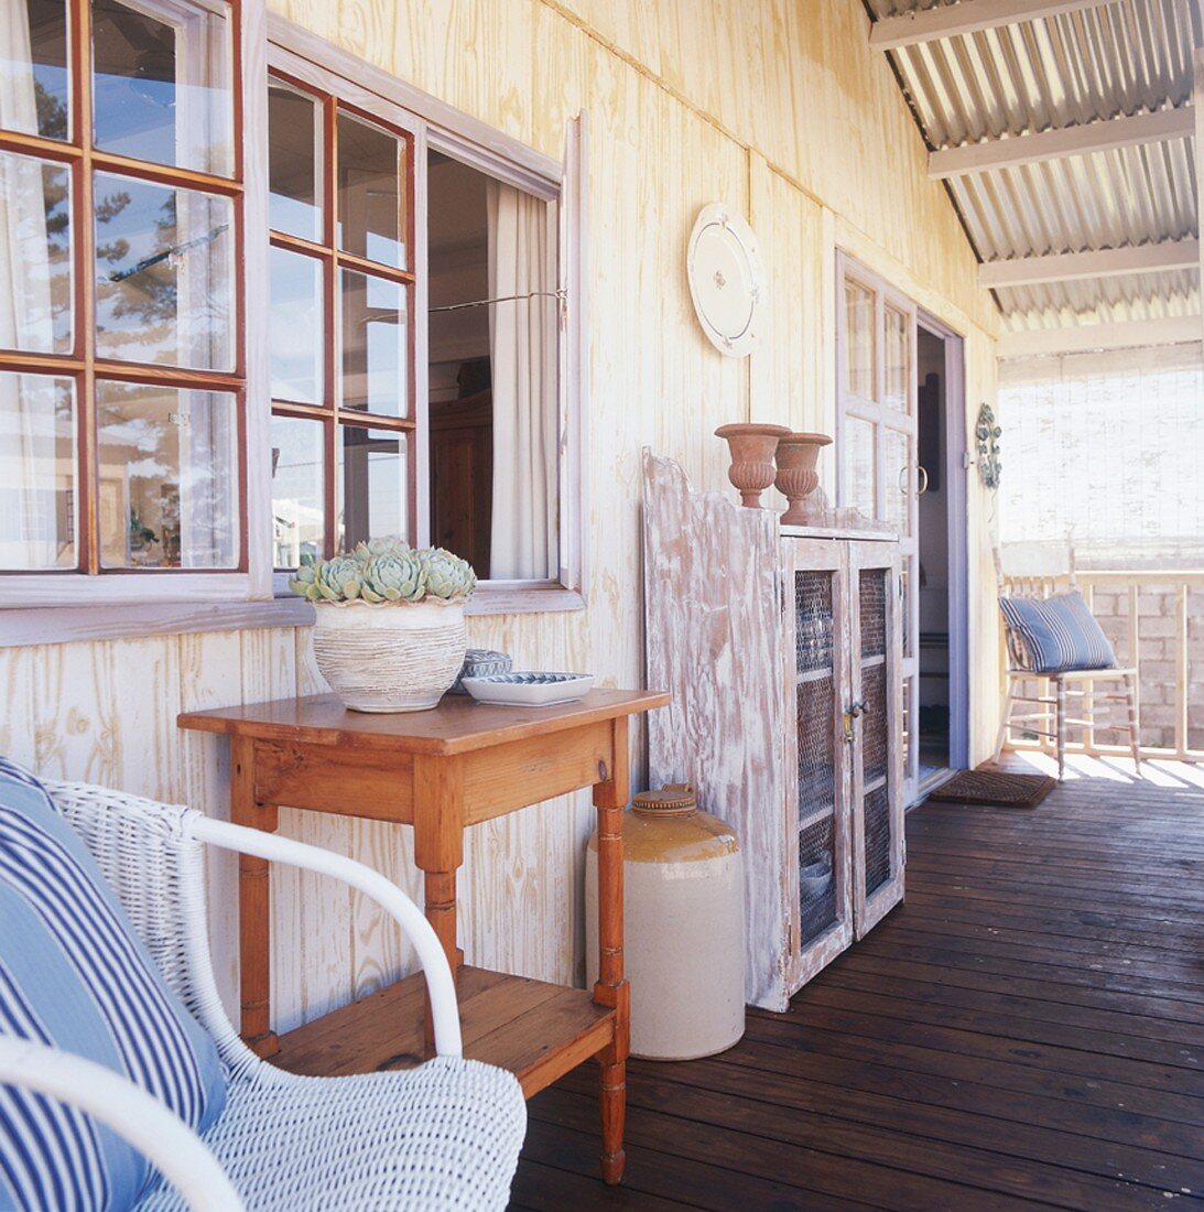
[[[0,127],[36,133],[24,4],[0,5]],[[0,154],[0,347],[53,351],[50,275],[41,165]],[[55,400],[51,379],[0,376],[0,567],[57,564]]]

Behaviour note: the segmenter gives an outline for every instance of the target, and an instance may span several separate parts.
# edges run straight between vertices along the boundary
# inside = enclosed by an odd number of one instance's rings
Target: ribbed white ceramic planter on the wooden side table
[[[319,602],[314,610],[317,668],[354,711],[429,710],[464,665],[460,602]]]

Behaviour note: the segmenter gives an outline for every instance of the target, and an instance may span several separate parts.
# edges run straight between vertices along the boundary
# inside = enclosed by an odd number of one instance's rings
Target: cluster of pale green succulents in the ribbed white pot
[[[356,543],[331,560],[302,556],[288,588],[311,602],[360,599],[372,605],[418,602],[424,598],[459,601],[476,588],[468,560],[429,547],[415,551],[396,534]]]

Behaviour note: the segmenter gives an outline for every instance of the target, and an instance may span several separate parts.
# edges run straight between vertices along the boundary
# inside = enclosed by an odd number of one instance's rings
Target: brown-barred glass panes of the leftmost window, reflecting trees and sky
[[[245,568],[237,0],[5,10],[0,571]]]

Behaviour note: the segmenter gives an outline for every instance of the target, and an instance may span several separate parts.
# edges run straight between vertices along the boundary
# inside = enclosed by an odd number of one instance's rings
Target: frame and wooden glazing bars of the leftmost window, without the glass
[[[70,378],[75,384],[76,408],[76,518],[78,562],[75,568],[5,570],[0,573],[0,607],[44,608],[87,604],[122,606],[161,601],[212,601],[251,599],[270,591],[268,570],[257,560],[263,548],[264,490],[268,487],[256,471],[250,453],[259,441],[256,424],[254,384],[266,371],[260,350],[247,339],[246,318],[264,305],[259,297],[265,279],[266,253],[259,253],[259,233],[266,211],[265,166],[252,154],[257,110],[253,99],[260,92],[265,73],[256,47],[266,36],[263,0],[228,0],[234,133],[234,165],[230,178],[208,172],[160,165],[101,150],[92,145],[92,13],[91,0],[68,0],[68,50],[71,91],[71,137],[48,139],[39,135],[0,132],[0,150],[36,156],[42,162],[61,165],[71,173],[71,350],[69,354],[31,354],[22,350],[0,351],[0,370]],[[139,6],[141,7],[141,6]],[[154,11],[159,6],[150,5]],[[165,4],[164,10],[174,6]],[[164,12],[164,19],[172,19]],[[235,208],[235,245],[231,279],[234,310],[235,365],[233,372],[190,370],[160,364],[133,362],[96,356],[94,320],[94,229],[92,216],[92,173],[109,171],[133,181],[183,189],[203,190],[231,200]],[[260,198],[260,195],[264,195]],[[260,213],[263,212],[263,213]],[[97,521],[98,433],[97,379],[150,384],[166,388],[193,388],[231,393],[236,401],[239,434],[239,562],[231,570],[190,568],[104,568],[101,564],[101,534]],[[270,518],[266,519],[270,521]],[[7,621],[8,610],[4,618]],[[19,622],[19,621],[18,621]],[[0,641],[2,642],[2,641]]]

